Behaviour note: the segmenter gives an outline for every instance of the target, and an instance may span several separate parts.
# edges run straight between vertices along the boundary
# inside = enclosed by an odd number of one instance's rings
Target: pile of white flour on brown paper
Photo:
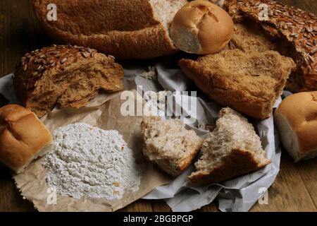
[[[56,129],[54,145],[42,165],[46,182],[73,198],[120,199],[139,190],[142,167],[118,131],[77,123]]]

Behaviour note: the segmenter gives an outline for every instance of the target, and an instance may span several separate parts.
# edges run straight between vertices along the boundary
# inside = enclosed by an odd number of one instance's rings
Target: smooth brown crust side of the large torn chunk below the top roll
[[[271,52],[271,54],[276,56],[278,53]],[[289,60],[289,63],[287,67],[291,71],[294,68],[294,62]],[[271,89],[270,92],[266,95],[259,95],[237,87],[238,84],[235,84],[234,78],[226,78],[225,75],[218,74],[216,70],[208,69],[199,59],[197,61],[181,59],[179,65],[188,78],[194,81],[198,88],[209,95],[211,99],[216,100],[220,105],[232,107],[256,119],[265,119],[271,116],[275,100],[282,93],[282,88],[288,78],[288,74],[280,75],[280,78],[276,78],[274,87],[268,88]],[[232,74],[234,73],[235,71],[232,71]]]

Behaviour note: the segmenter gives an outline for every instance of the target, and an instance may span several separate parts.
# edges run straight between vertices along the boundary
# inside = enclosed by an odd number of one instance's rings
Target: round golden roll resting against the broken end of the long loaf
[[[191,1],[176,13],[170,37],[178,49],[192,54],[219,52],[230,41],[234,25],[229,14],[209,1]]]

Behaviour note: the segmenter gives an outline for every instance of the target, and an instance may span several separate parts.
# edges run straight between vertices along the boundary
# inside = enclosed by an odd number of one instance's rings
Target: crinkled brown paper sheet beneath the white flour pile
[[[136,93],[135,90],[133,92]],[[56,204],[53,204],[54,194],[48,190],[49,187],[46,185],[46,169],[42,167],[43,157],[41,157],[32,162],[23,173],[13,177],[23,198],[32,201],[39,211],[115,211],[142,198],[157,186],[171,182],[172,179],[167,174],[142,158],[142,138],[139,133],[142,117],[123,117],[120,114],[123,102],[125,100],[120,100],[120,93],[102,93],[89,102],[87,107],[81,109],[56,108],[43,117],[42,121],[50,131],[78,121],[101,129],[118,130],[128,143],[129,148],[132,148],[135,154],[140,156],[138,161],[144,164],[144,174],[139,191],[127,191],[122,199],[111,201],[102,198],[76,199],[56,194]]]

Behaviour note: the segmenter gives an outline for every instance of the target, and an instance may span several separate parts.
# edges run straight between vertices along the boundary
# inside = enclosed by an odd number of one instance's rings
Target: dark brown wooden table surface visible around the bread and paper
[[[280,0],[317,15],[316,0]],[[51,44],[32,15],[30,1],[0,0],[0,77],[11,73],[20,57]],[[170,211],[164,201],[135,201],[123,211]],[[217,211],[217,203],[200,211]],[[283,151],[280,173],[268,189],[268,205],[256,203],[251,211],[316,211],[317,158],[294,164]],[[0,169],[0,211],[35,211],[15,188],[11,174]]]

